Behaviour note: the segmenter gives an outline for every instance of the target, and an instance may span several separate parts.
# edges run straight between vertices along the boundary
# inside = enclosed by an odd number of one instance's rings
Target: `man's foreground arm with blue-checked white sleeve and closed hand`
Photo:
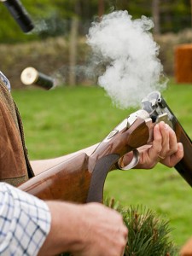
[[[42,201],[7,183],[0,183],[0,204],[1,255],[124,252],[128,231],[123,219],[102,204]]]

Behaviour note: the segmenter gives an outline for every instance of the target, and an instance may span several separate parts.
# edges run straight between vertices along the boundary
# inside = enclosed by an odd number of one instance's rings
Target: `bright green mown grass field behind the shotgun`
[[[31,159],[68,154],[100,142],[133,109],[113,107],[99,87],[13,91],[20,108]],[[192,84],[170,82],[166,102],[192,137]],[[192,189],[174,168],[114,171],[108,174],[105,195],[124,206],[143,205],[170,221],[178,246],[192,236]]]

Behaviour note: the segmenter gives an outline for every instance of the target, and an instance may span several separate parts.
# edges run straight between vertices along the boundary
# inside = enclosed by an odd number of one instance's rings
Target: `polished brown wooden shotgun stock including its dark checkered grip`
[[[112,166],[125,153],[146,144],[148,136],[145,120],[136,119],[130,128],[125,125],[113,136],[109,133],[90,156],[73,156],[19,188],[43,200],[102,202],[105,179]]]

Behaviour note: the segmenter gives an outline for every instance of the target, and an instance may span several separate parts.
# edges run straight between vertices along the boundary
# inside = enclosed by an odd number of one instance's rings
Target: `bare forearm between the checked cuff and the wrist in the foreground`
[[[47,205],[51,213],[51,227],[38,255],[82,250],[82,223],[79,220],[82,218],[82,206],[58,201],[47,201]]]

